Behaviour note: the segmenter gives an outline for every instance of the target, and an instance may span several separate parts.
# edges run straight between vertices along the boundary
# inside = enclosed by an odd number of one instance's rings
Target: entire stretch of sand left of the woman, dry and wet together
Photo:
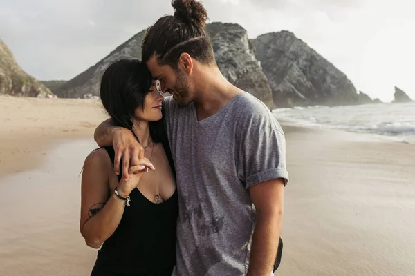
[[[78,175],[105,118],[98,101],[0,95],[1,276],[88,275]]]

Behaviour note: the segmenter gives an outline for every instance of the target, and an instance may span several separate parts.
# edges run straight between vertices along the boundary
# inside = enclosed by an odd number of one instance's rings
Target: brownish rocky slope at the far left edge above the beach
[[[0,94],[28,97],[55,97],[48,88],[26,74],[12,51],[0,39]]]

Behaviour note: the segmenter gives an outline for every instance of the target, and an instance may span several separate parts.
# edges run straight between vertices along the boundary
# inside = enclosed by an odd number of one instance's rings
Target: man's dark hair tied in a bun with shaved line
[[[204,30],[208,13],[202,3],[173,0],[172,7],[173,16],[161,17],[147,30],[142,41],[142,61],[149,61],[155,54],[160,65],[177,68],[178,58],[187,52],[203,64],[216,64],[212,43]]]

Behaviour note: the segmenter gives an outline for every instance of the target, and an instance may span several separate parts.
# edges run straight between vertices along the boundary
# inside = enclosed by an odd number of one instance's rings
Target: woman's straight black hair
[[[116,126],[132,131],[137,108],[144,110],[145,97],[153,79],[145,63],[138,59],[120,59],[105,70],[101,79],[100,97],[102,105]],[[149,122],[153,141],[163,139],[163,119]]]

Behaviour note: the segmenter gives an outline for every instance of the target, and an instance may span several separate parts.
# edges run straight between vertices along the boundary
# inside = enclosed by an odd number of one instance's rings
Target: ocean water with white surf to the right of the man
[[[280,108],[273,114],[301,126],[369,133],[382,139],[415,143],[415,102]]]

